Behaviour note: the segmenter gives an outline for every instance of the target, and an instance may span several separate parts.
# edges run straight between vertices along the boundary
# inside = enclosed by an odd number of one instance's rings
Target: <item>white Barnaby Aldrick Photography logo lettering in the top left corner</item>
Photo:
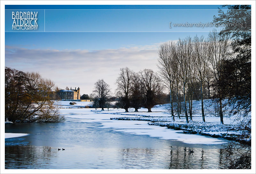
[[[12,12],[12,30],[37,30],[38,12]]]

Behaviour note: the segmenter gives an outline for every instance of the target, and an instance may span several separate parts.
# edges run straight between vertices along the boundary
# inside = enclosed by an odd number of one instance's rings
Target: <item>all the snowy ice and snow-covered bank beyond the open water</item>
[[[148,109],[140,108],[139,112],[133,112],[134,109],[129,109],[130,112],[125,112],[124,109],[109,110],[105,108],[105,111],[97,110],[93,108],[79,108],[91,105],[91,102],[76,102],[76,109],[73,109],[69,105],[70,101],[56,101],[56,105],[66,107],[68,109],[61,108],[61,115],[72,118],[79,118],[75,122],[95,122],[101,123],[100,128],[114,128],[114,131],[132,133],[137,135],[149,135],[152,137],[159,137],[163,139],[176,139],[185,143],[199,143],[199,144],[220,144],[223,143],[219,139],[212,137],[204,137],[199,134],[183,134],[183,131],[189,131],[192,133],[200,133],[202,135],[210,135],[213,137],[221,137],[228,139],[236,139],[241,134],[240,131],[228,130],[236,126],[238,121],[235,120],[235,116],[226,116],[223,118],[224,125],[220,124],[220,117],[214,116],[214,104],[211,100],[205,100],[205,123],[202,121],[201,116],[201,101],[193,101],[193,121],[186,123],[184,115],[181,115],[179,119],[175,116],[175,121],[166,109],[169,104],[156,105],[148,113]],[[228,108],[225,108],[228,110]],[[130,121],[127,121],[130,120]],[[171,128],[171,129],[168,129]]]

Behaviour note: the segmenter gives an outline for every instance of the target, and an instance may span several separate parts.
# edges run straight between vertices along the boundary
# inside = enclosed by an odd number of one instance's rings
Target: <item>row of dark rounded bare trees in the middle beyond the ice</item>
[[[111,97],[110,87],[103,79],[94,84],[94,91],[90,95],[92,105],[101,110],[109,107],[138,109],[145,107],[148,112],[157,104],[168,103],[168,95],[163,92],[164,86],[160,77],[151,69],[144,69],[138,73],[128,67],[121,68],[116,79],[116,97]],[[115,105],[110,102],[116,101]]]

